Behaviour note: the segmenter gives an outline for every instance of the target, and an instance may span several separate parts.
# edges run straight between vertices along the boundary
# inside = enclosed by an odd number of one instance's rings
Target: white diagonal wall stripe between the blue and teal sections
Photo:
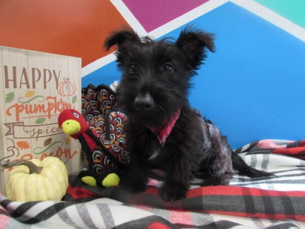
[[[281,15],[273,12],[272,10],[269,10],[268,8],[256,3],[253,0],[231,0],[231,2],[251,11],[257,16],[282,28],[282,30],[305,42],[305,29],[297,24],[294,24],[287,18],[282,17]]]

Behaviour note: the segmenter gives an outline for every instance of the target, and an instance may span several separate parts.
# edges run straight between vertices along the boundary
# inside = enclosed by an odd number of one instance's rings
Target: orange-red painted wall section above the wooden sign
[[[82,58],[108,54],[109,32],[128,25],[109,0],[0,1],[0,45]]]

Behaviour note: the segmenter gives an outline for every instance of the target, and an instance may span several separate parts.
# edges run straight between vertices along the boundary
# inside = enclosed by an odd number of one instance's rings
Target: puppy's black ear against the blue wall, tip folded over
[[[186,28],[177,39],[175,45],[185,54],[190,67],[198,69],[206,58],[205,49],[215,52],[214,35],[203,31],[194,31]]]

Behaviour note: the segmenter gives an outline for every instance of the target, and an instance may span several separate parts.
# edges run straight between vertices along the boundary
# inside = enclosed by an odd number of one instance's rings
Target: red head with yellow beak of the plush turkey
[[[65,134],[77,139],[89,125],[80,112],[74,109],[63,110],[58,116],[58,126]]]

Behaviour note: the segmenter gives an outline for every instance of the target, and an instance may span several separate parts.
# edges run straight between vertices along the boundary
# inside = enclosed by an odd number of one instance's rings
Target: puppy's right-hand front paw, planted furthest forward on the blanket
[[[185,198],[187,195],[188,189],[181,185],[164,185],[160,189],[160,196],[164,201],[178,201],[179,199]]]

